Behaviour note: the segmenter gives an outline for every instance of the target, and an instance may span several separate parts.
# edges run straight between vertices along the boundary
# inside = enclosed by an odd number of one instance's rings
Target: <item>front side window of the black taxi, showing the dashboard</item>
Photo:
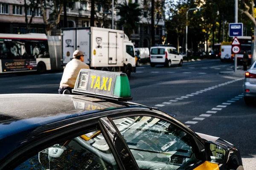
[[[193,150],[196,146],[191,143],[194,139],[169,122],[150,116],[127,117],[114,122],[140,169],[177,170],[199,161]]]

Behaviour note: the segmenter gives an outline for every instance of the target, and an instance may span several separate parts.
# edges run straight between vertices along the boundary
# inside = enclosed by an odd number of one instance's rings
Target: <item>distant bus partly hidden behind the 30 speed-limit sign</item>
[[[239,42],[240,42],[240,52],[237,54],[237,62],[242,62],[243,56],[244,56],[244,51],[247,51],[247,54],[249,55],[249,63],[251,62],[252,58],[252,53],[253,53],[253,41],[252,37],[249,36],[244,36],[244,37],[237,37]],[[232,61],[234,61],[235,54],[231,55]]]

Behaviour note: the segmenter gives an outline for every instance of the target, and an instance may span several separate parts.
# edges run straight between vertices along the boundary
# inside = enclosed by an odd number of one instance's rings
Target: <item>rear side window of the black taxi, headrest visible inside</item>
[[[98,129],[54,144],[24,161],[15,170],[117,170],[111,150]]]

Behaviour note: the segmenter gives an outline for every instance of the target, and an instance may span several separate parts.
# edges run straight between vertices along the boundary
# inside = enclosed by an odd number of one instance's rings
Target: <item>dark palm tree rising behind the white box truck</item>
[[[117,15],[121,17],[118,25],[123,26],[125,34],[129,37],[129,39],[131,34],[134,34],[135,28],[138,27],[140,16],[142,15],[142,9],[139,7],[140,5],[137,3],[129,2],[127,4],[126,0],[125,3],[119,4],[116,7],[116,9],[119,10]]]

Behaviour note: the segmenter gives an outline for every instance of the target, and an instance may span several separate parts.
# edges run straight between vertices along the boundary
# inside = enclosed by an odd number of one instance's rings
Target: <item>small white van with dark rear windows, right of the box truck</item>
[[[177,52],[175,47],[156,46],[150,48],[150,65],[165,65],[171,67],[173,64],[182,66],[183,56]]]

